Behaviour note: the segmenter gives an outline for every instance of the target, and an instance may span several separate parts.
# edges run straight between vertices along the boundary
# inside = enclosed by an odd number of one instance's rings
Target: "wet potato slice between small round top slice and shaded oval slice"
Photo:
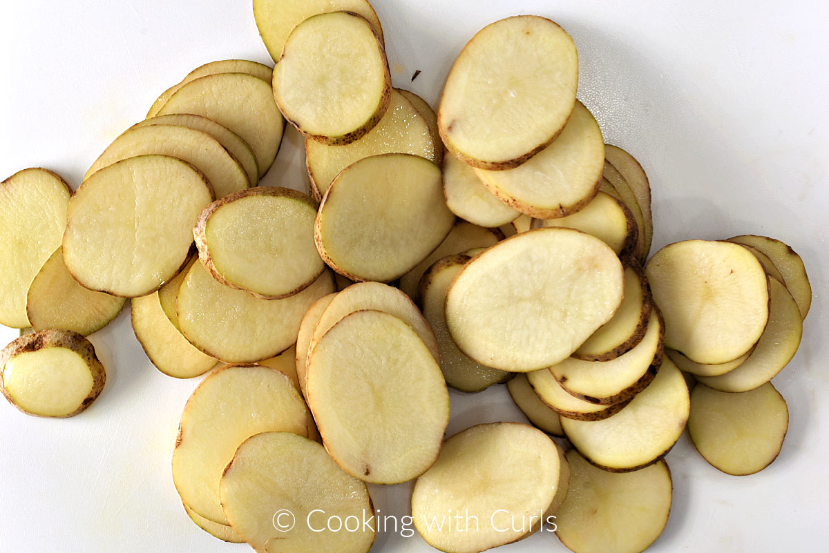
[[[438,145],[443,148],[442,142]],[[360,140],[340,146],[329,146],[310,138],[305,141],[305,164],[311,194],[322,200],[334,177],[365,157],[404,153],[438,163],[434,150],[434,138],[426,119],[399,90],[391,89],[389,108],[380,122]]]

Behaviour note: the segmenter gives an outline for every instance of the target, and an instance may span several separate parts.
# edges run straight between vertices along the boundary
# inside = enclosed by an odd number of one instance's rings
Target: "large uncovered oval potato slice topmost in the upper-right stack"
[[[573,39],[556,23],[537,16],[494,22],[473,36],[449,72],[440,136],[469,165],[519,166],[565,127],[578,81]]]

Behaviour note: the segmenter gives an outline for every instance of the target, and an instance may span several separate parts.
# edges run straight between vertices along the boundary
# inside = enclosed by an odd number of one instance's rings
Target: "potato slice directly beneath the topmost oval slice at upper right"
[[[555,219],[574,214],[593,200],[603,165],[599,123],[577,100],[560,135],[531,159],[507,171],[475,172],[510,207],[537,219]]]

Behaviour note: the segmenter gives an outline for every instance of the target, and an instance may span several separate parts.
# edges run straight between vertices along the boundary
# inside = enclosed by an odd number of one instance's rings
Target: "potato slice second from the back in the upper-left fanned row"
[[[268,83],[246,73],[206,75],[173,94],[158,115],[193,113],[238,134],[256,156],[259,178],[274,163],[282,142],[284,119]]]

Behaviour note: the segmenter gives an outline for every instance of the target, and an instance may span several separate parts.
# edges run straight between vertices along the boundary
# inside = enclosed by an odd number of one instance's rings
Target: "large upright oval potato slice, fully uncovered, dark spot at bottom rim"
[[[448,391],[439,363],[402,320],[376,310],[343,317],[308,356],[306,379],[322,443],[351,476],[401,483],[434,464]]]

